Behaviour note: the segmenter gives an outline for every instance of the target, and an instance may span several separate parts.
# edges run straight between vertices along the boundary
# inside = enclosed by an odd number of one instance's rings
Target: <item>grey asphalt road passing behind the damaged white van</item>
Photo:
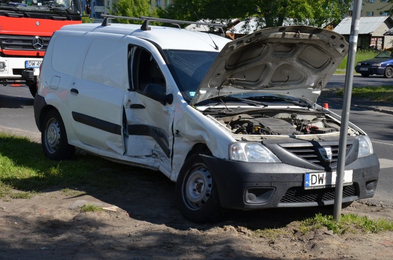
[[[327,87],[343,87],[344,75],[334,75]],[[354,76],[353,86],[364,85],[393,85],[393,79],[380,76],[363,78]],[[341,115],[340,106],[331,108]],[[351,110],[350,121],[368,133],[374,152],[380,159],[381,171],[378,188],[373,203],[380,202],[393,205],[393,115],[365,109]],[[11,129],[28,132],[39,138],[40,133],[35,125],[33,113],[33,98],[27,87],[11,87],[0,85],[0,130]]]

